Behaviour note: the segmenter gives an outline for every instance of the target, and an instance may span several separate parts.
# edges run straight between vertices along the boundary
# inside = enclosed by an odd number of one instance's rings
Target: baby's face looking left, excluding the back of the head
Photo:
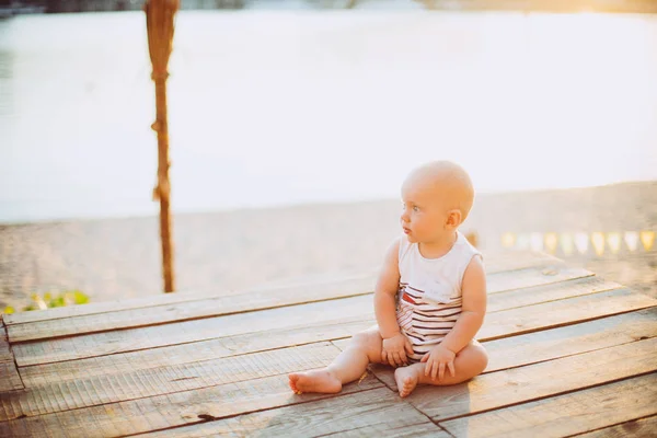
[[[439,241],[452,231],[446,227],[448,209],[440,195],[440,186],[427,177],[411,177],[404,183],[401,223],[410,242]]]

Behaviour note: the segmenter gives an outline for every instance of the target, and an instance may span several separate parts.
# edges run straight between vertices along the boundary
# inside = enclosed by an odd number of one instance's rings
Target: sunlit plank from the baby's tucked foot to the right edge
[[[532,402],[657,370],[657,338],[482,374],[452,385],[417,388],[407,399],[435,422]]]

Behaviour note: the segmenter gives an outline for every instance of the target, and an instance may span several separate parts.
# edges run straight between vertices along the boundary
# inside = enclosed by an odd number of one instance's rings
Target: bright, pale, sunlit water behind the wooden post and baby
[[[150,215],[141,12],[0,22],[0,222]],[[657,18],[191,12],[170,71],[174,211],[657,178]]]

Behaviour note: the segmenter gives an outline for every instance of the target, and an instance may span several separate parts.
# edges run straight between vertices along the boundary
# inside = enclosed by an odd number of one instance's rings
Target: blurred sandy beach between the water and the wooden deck
[[[320,204],[174,217],[176,286],[249,288],[377,266],[399,233],[399,200]],[[477,197],[463,231],[494,253],[506,232],[657,230],[657,182]],[[655,245],[654,245],[655,246]],[[657,297],[657,251],[566,256],[606,278]],[[33,291],[79,289],[92,302],[160,293],[155,217],[0,226],[0,307]]]

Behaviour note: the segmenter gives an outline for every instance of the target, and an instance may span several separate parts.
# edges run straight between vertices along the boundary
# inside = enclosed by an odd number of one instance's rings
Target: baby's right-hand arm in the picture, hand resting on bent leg
[[[454,358],[476,335],[484,323],[486,313],[486,275],[480,257],[473,257],[463,274],[461,285],[461,315],[453,328],[442,342],[427,353],[422,361],[426,362],[425,376],[442,380],[446,368],[456,376]]]

